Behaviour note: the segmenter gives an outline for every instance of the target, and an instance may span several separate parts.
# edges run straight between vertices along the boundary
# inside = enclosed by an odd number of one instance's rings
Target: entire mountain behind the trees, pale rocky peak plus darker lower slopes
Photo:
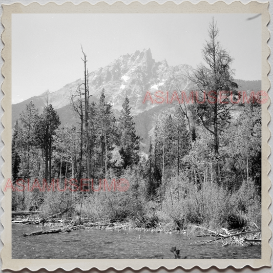
[[[149,151],[150,135],[157,117],[165,109],[174,107],[171,104],[152,104],[150,101],[142,103],[146,91],[153,94],[157,90],[174,91],[186,90],[190,81],[186,75],[193,68],[189,65],[169,66],[166,60],[156,62],[152,58],[150,49],[144,49],[142,52],[136,51],[132,54],[122,55],[115,59],[108,66],[99,68],[89,73],[89,88],[91,101],[97,101],[102,88],[105,90],[106,99],[112,101],[115,117],[120,115],[122,103],[126,95],[129,96],[132,114],[136,123],[136,133],[142,138],[142,149]],[[239,85],[239,90],[247,91],[261,90],[261,81],[235,80]],[[77,124],[78,118],[73,113],[70,105],[70,97],[75,93],[83,79],[77,79],[61,89],[49,93],[45,92],[39,96],[34,96],[23,102],[12,105],[12,128],[16,119],[25,109],[26,104],[33,101],[39,112],[48,103],[52,103],[54,109],[60,117],[62,124]],[[171,95],[170,95],[171,96]],[[154,98],[154,97],[153,97]],[[177,104],[177,102],[175,103]]]

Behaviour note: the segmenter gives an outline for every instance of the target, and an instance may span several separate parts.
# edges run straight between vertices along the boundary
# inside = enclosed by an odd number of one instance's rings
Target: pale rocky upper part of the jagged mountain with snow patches
[[[91,100],[96,101],[104,88],[106,99],[112,101],[113,109],[120,111],[124,98],[128,95],[132,113],[141,113],[156,106],[151,103],[142,103],[146,91],[149,90],[152,94],[157,90],[184,90],[189,83],[186,74],[191,70],[192,67],[188,65],[172,67],[166,60],[156,62],[150,49],[144,49],[141,52],[137,50],[132,54],[122,55],[108,66],[89,73],[89,89],[90,94],[93,95]],[[47,101],[56,110],[68,106],[71,95],[76,92],[82,82],[83,79],[77,79],[55,92],[44,92],[39,96],[13,104],[12,108],[17,109],[12,113],[13,124],[16,121],[15,118],[18,118],[18,110],[22,112],[30,100],[39,109],[43,109]]]

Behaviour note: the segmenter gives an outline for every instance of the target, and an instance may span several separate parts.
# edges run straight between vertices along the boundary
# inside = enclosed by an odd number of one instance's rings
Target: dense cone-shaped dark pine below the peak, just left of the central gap
[[[126,169],[128,166],[137,164],[139,161],[139,145],[140,138],[136,135],[135,122],[131,115],[130,100],[125,97],[122,104],[121,116],[119,117],[120,131],[120,149],[119,153],[123,160],[122,167]]]

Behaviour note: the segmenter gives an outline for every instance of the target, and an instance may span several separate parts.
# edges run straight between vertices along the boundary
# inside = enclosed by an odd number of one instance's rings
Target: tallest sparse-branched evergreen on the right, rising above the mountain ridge
[[[202,125],[212,134],[216,158],[219,157],[219,132],[229,124],[229,110],[233,106],[228,102],[228,96],[230,91],[236,91],[238,88],[232,76],[233,58],[221,48],[217,41],[218,34],[219,30],[213,19],[208,30],[209,40],[202,50],[205,64],[199,65],[190,77],[200,95],[199,103],[193,104],[192,113],[197,124]],[[221,97],[222,91],[225,93]],[[218,182],[219,176],[219,164],[215,163],[214,181]]]

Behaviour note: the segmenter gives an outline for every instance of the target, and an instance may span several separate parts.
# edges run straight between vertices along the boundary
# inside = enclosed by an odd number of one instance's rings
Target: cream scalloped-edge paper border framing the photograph
[[[262,90],[268,92],[270,82],[267,77],[270,66],[267,58],[270,54],[270,49],[267,46],[269,39],[269,31],[267,24],[269,23],[268,3],[250,2],[243,4],[241,2],[233,2],[231,4],[225,4],[224,2],[216,2],[215,4],[209,4],[207,2],[199,2],[198,4],[192,4],[190,2],[183,2],[181,4],[175,4],[173,2],[166,2],[162,5],[156,2],[149,2],[148,4],[141,4],[139,2],[133,2],[129,5],[125,5],[122,2],[116,2],[109,5],[105,2],[99,2],[92,5],[88,2],[74,5],[67,2],[62,5],[55,3],[48,3],[46,5],[40,5],[33,3],[24,6],[20,3],[12,5],[3,5],[2,24],[4,26],[4,32],[2,33],[2,41],[4,43],[4,49],[2,51],[2,58],[4,59],[4,65],[2,67],[2,74],[4,76],[4,82],[2,85],[2,91],[4,92],[4,98],[2,99],[2,107],[4,114],[2,117],[2,124],[4,131],[2,133],[2,140],[4,142],[4,148],[2,150],[2,157],[4,164],[2,166],[2,173],[4,181],[2,182],[2,190],[7,179],[11,178],[11,15],[12,13],[261,13],[262,14]],[[270,196],[268,194],[270,188],[270,180],[268,173],[270,171],[270,164],[268,156],[270,154],[270,147],[268,145],[268,139],[270,137],[270,131],[268,129],[268,123],[270,121],[270,115],[268,107],[270,100],[265,104],[262,104],[262,259],[250,260],[250,259],[238,259],[238,260],[129,260],[129,259],[114,259],[114,260],[28,260],[28,259],[12,259],[11,258],[11,189],[8,189],[2,200],[2,207],[4,209],[4,215],[2,216],[2,224],[4,231],[1,239],[4,247],[1,252],[2,269],[21,270],[28,268],[30,270],[38,270],[39,268],[46,268],[47,270],[55,270],[62,268],[65,270],[72,270],[73,268],[80,268],[82,270],[88,270],[90,268],[97,268],[99,270],[106,270],[107,268],[115,268],[121,270],[127,267],[132,269],[140,269],[143,267],[149,267],[150,269],[158,269],[159,267],[165,267],[167,269],[174,269],[178,266],[184,269],[191,269],[194,266],[198,266],[202,269],[216,266],[219,269],[226,268],[228,266],[234,266],[235,268],[242,268],[246,265],[253,268],[260,268],[263,266],[270,266],[271,247],[268,243],[271,237],[271,231],[268,226],[271,215],[268,211],[268,206],[271,203]]]

